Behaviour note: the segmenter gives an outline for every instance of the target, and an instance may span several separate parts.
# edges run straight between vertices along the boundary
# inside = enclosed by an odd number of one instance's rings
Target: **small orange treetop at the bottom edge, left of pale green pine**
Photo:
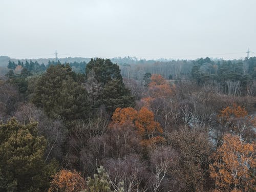
[[[60,170],[53,178],[48,192],[61,191],[73,192],[81,191],[85,188],[85,181],[80,173],[74,170]]]

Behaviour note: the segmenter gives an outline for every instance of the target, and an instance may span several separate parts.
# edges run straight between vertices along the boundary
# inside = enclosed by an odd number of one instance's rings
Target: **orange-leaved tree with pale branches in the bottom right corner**
[[[215,180],[215,191],[256,190],[252,176],[256,168],[255,142],[245,143],[239,136],[224,135],[213,160],[209,169],[210,177]]]

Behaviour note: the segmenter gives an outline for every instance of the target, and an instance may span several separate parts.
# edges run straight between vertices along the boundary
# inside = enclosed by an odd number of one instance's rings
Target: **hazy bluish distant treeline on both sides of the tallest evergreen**
[[[145,74],[160,74],[171,80],[193,80],[199,85],[212,83],[218,87],[221,93],[227,95],[253,95],[254,83],[256,79],[256,57],[240,60],[212,60],[209,57],[197,60],[138,60],[136,57],[116,57],[112,62],[117,63],[124,78],[141,81]],[[22,77],[32,74],[40,74],[46,71],[51,65],[58,65],[61,62],[48,61],[39,63],[38,61],[9,60],[8,68],[14,70]],[[84,74],[86,71],[86,61],[65,62],[69,64],[76,73]],[[14,72],[9,72],[7,76],[13,76]],[[20,72],[20,73],[19,73]]]

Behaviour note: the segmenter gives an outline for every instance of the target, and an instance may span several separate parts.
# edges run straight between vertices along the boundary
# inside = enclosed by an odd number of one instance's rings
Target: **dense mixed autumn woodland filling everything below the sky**
[[[256,190],[256,57],[8,69],[0,191]]]

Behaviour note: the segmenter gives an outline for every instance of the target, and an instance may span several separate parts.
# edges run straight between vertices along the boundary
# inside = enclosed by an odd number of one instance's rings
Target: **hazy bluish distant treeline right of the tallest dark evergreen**
[[[160,74],[166,79],[192,80],[198,85],[211,83],[227,95],[245,96],[254,94],[256,57],[244,60],[198,60],[157,61],[154,63],[120,65],[122,76],[142,80],[145,74]]]

